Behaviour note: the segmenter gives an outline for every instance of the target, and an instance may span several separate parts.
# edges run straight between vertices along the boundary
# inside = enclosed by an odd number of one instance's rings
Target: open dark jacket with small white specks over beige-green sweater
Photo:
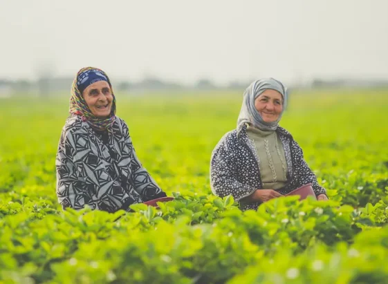
[[[315,195],[326,194],[313,171],[303,158],[303,151],[286,129],[278,127],[277,135],[284,147],[288,167],[287,184],[277,191],[286,194],[304,184],[313,184]],[[247,124],[226,133],[212,152],[210,183],[216,196],[232,195],[242,210],[257,209],[259,202],[243,203],[256,189],[263,189],[259,171],[259,158],[255,144],[248,138]]]

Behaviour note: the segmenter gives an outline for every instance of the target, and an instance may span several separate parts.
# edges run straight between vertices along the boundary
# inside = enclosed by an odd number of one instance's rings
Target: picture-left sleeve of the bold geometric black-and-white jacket
[[[83,134],[82,129],[63,130],[59,140],[56,193],[62,209],[79,210],[89,205],[91,209],[113,212],[127,203],[141,202],[137,196],[129,196],[107,171],[98,169],[98,155],[93,153],[94,147],[85,146],[88,142]]]

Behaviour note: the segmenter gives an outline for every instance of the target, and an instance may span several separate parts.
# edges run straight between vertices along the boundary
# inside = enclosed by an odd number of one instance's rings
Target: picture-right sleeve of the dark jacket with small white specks
[[[313,190],[315,192],[315,196],[319,196],[320,194],[326,195],[326,189],[321,187],[317,182],[317,176],[315,173],[308,167],[306,160],[304,160],[303,150],[297,144],[295,140],[293,140],[293,149],[294,149],[294,178],[295,178],[295,188],[302,187],[304,184],[311,183],[313,186]]]

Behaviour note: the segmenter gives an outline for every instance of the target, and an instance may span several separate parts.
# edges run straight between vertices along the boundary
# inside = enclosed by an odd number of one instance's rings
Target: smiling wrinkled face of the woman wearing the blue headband
[[[91,113],[98,118],[107,118],[111,114],[113,95],[106,81],[98,81],[88,86],[82,92]]]

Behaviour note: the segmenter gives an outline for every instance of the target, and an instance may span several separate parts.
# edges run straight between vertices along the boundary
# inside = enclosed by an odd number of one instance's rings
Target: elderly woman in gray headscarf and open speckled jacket
[[[259,79],[246,89],[237,129],[226,133],[212,153],[214,194],[232,195],[242,210],[257,209],[261,202],[311,183],[317,199],[327,200],[302,149],[279,126],[286,102],[286,88],[276,79]]]

